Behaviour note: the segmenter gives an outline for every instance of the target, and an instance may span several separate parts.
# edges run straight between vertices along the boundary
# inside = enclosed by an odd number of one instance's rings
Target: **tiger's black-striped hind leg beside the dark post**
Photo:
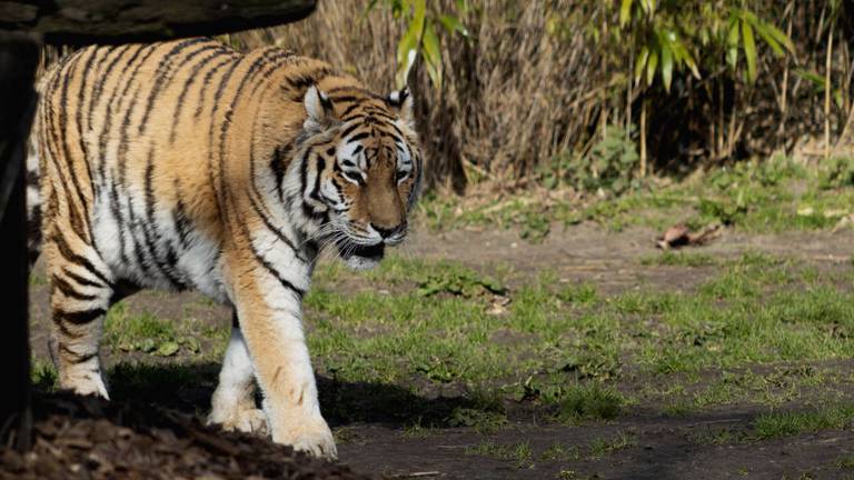
[[[62,234],[46,246],[52,318],[51,356],[62,389],[109,399],[99,343],[115,290],[90,246],[71,247]]]

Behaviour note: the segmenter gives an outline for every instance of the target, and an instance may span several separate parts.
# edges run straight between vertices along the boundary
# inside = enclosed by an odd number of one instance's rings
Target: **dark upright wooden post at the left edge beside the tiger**
[[[0,43],[0,334],[2,381],[0,440],[19,449],[30,443],[30,344],[27,322],[28,260],[24,158],[36,104],[36,43]]]

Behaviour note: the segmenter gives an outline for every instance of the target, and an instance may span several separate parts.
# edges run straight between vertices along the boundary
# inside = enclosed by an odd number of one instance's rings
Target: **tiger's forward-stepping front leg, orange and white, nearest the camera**
[[[264,392],[272,440],[316,457],[335,459],[335,440],[320,414],[302,332],[302,292],[257,260],[254,263],[234,282],[235,304]]]

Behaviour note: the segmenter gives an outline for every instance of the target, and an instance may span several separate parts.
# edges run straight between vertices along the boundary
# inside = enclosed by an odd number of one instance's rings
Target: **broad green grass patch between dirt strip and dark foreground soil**
[[[467,287],[419,294],[418,278],[461,281],[481,273],[398,258],[370,279],[396,284],[395,294],[315,288],[306,298],[309,347],[320,372],[342,381],[425,392],[480,389],[543,406],[564,422],[617,416],[630,403],[617,389],[626,371],[677,379],[672,386],[681,391],[644,393],[665,396],[671,414],[743,401],[779,406],[811,386],[813,396],[832,394],[824,369],[743,369],[850,358],[854,294],[821,276],[803,283],[797,263],[768,254],[747,252],[718,266],[723,270],[696,291],[609,297],[590,284],[562,284],[547,271],[508,292],[507,311],[493,314],[483,294],[451,293]],[[467,286],[484,289],[474,280]],[[721,370],[727,373],[703,373]],[[705,384],[693,387],[702,379]],[[484,431],[504,421],[503,410],[478,402],[457,413],[455,424]]]

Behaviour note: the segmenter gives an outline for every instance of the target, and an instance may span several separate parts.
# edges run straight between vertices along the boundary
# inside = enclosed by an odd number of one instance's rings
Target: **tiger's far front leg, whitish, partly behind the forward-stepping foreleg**
[[[225,430],[267,434],[267,414],[256,404],[255,391],[255,368],[235,313],[208,423],[220,424]]]

